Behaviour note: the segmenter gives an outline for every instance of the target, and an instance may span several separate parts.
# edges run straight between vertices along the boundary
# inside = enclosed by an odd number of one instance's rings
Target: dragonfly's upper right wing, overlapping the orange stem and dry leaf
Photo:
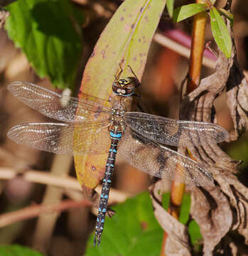
[[[126,112],[126,125],[146,139],[159,144],[187,146],[219,143],[228,138],[228,132],[217,124],[158,117],[141,112]]]

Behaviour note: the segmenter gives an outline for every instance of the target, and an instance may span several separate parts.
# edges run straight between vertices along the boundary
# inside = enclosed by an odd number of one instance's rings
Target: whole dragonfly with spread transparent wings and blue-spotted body
[[[131,67],[129,67],[131,69]],[[129,111],[129,100],[139,97],[139,79],[114,76],[111,107],[95,97],[69,97],[30,82],[11,82],[8,90],[21,102],[60,123],[23,123],[8,137],[18,144],[55,154],[108,154],[102,180],[94,245],[99,245],[107,213],[114,163],[122,156],[128,164],[158,178],[190,186],[214,186],[212,174],[197,161],[166,145],[220,143],[228,132],[217,124],[183,121]],[[108,102],[109,103],[109,102]]]

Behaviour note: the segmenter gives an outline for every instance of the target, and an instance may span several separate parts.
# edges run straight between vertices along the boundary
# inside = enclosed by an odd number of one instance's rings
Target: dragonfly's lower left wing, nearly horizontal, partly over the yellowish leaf
[[[7,135],[18,144],[55,154],[104,154],[110,146],[107,123],[26,123],[12,127]]]

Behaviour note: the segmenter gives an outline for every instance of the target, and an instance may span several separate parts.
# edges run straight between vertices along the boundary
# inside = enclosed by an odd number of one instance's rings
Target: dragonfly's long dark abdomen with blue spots
[[[122,128],[118,125],[112,125],[109,135],[111,137],[111,146],[109,148],[109,155],[106,163],[104,178],[102,180],[102,193],[100,195],[97,225],[95,228],[94,245],[99,245],[101,242],[102,231],[104,228],[105,215],[107,213],[107,202],[109,200],[109,189],[112,183],[112,175],[114,171],[114,162],[117,155],[117,144],[122,138]]]

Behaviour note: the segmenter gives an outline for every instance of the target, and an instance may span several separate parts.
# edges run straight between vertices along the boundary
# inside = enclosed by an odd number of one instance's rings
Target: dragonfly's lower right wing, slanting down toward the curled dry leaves
[[[152,176],[193,186],[214,186],[212,174],[198,162],[154,144],[130,129],[126,129],[122,137],[118,154],[131,166]]]

